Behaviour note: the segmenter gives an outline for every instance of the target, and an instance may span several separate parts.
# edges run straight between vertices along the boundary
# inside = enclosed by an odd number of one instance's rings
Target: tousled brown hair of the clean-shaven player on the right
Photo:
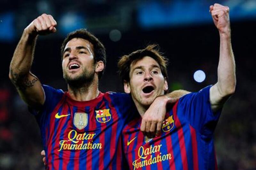
[[[160,69],[164,78],[166,78],[166,81],[168,80],[167,68],[166,68],[168,64],[168,59],[159,52],[159,46],[156,44],[153,44],[153,45],[148,45],[144,49],[134,51],[129,55],[123,55],[119,59],[117,63],[117,67],[118,67],[118,73],[123,83],[124,81],[126,82],[130,81],[131,64],[136,63],[137,61],[141,60],[145,56],[152,57],[154,60],[156,60],[156,62],[160,66]]]

